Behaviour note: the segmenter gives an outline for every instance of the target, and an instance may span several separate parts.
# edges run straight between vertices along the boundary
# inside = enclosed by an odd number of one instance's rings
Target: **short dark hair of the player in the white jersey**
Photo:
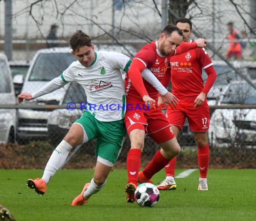
[[[76,30],[71,35],[69,43],[70,43],[71,49],[73,51],[75,51],[75,50],[79,51],[79,48],[82,46],[85,46],[85,45],[88,47],[92,47],[91,38],[87,34],[82,32],[81,30]]]

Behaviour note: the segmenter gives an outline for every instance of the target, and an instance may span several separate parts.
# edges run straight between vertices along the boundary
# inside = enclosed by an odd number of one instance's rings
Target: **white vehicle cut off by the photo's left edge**
[[[7,57],[0,54],[0,103],[15,104],[13,80]],[[17,124],[16,109],[0,109],[0,143],[14,143]]]

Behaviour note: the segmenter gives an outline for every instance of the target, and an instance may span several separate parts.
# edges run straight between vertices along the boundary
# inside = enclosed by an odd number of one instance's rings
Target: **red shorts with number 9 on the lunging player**
[[[128,132],[141,129],[146,132],[157,144],[172,140],[175,137],[172,126],[160,109],[126,110],[124,123]]]

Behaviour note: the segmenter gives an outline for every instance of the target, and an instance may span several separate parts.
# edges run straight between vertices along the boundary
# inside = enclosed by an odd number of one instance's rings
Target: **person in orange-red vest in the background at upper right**
[[[227,29],[229,31],[229,34],[227,35],[227,39],[230,40],[230,46],[228,48],[228,52],[226,54],[227,59],[236,59],[236,60],[241,60],[242,57],[242,47],[239,42],[241,39],[240,36],[237,33],[237,30],[234,29],[234,24],[233,22],[229,22],[227,24]]]

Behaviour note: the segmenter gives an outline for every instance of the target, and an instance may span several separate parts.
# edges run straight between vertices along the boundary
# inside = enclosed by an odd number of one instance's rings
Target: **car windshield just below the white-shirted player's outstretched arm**
[[[62,104],[68,103],[85,103],[87,101],[85,91],[81,85],[76,82],[72,82],[68,87]]]

